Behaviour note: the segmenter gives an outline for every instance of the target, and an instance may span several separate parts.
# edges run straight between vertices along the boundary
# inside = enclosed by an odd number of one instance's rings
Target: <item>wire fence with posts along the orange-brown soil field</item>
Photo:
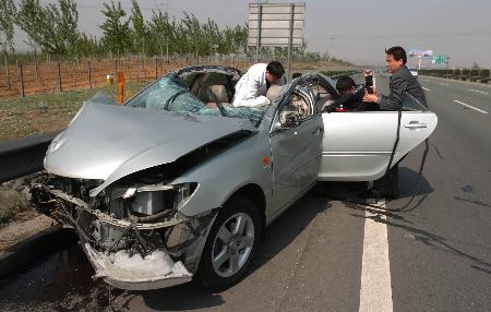
[[[124,73],[127,82],[152,81],[167,72],[192,64],[221,64],[247,69],[249,58],[220,57],[139,57],[129,56],[115,59],[87,59],[72,62],[44,61],[5,64],[0,70],[0,98],[26,96],[81,88],[92,88],[106,84],[106,76]]]

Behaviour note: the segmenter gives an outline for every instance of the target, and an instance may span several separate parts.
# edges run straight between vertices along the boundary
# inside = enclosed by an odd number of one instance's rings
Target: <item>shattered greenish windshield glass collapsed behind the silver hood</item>
[[[194,96],[176,73],[163,76],[125,105],[154,110],[249,119],[255,125],[260,123],[267,109],[267,106],[232,107],[223,104],[220,110],[216,105],[207,105]]]

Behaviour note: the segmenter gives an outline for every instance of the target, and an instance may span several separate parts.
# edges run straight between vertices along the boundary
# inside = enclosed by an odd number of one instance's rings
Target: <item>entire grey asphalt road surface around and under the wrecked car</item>
[[[420,82],[439,127],[409,211],[376,206],[408,201],[421,147],[400,165],[400,200],[367,207],[349,202],[362,183],[318,184],[268,228],[251,273],[226,291],[109,289],[73,245],[3,281],[0,310],[490,311],[491,115],[479,110],[491,112],[491,87]],[[376,83],[386,93],[387,79]]]

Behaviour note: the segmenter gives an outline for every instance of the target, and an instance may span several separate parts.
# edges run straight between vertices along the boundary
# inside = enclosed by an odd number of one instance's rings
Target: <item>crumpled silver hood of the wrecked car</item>
[[[88,101],[50,144],[45,168],[55,175],[103,179],[104,184],[176,160],[237,131],[249,120],[196,116]]]

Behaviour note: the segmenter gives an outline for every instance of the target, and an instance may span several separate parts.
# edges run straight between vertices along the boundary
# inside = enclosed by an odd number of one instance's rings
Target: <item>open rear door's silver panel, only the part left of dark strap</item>
[[[322,113],[324,137],[321,181],[380,178],[396,137],[396,111]]]

